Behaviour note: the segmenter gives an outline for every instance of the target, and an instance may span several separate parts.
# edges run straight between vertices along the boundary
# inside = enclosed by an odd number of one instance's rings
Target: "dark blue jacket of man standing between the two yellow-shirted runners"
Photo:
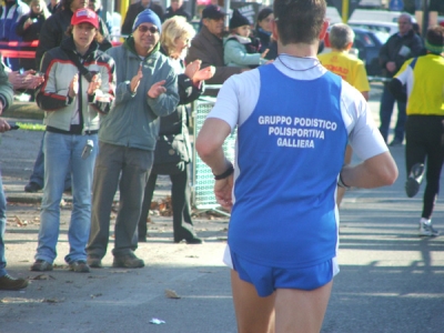
[[[380,50],[380,64],[386,78],[393,78],[401,69],[405,60],[422,54],[423,41],[413,30],[401,37],[398,33],[392,34]],[[385,64],[390,61],[396,63],[396,70],[389,72]]]

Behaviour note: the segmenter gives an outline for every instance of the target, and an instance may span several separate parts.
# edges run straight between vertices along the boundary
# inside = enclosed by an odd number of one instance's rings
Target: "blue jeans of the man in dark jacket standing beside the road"
[[[390,121],[392,119],[393,107],[395,105],[395,101],[396,100],[394,95],[389,91],[387,84],[384,84],[384,90],[382,92],[381,107],[380,107],[380,120],[381,120],[380,132],[384,138],[385,142],[387,142],[389,138]],[[405,108],[406,108],[405,103],[397,102],[397,121],[395,127],[394,140],[401,142],[404,140],[404,127],[405,127],[405,121],[407,119],[407,115],[405,113]]]

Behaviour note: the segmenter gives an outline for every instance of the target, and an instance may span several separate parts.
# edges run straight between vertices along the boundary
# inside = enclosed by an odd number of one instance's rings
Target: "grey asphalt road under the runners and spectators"
[[[371,108],[377,119],[377,87]],[[9,272],[30,276],[21,292],[0,292],[0,332],[236,332],[229,270],[221,262],[228,220],[195,219],[203,245],[173,244],[171,218],[153,216],[149,241],[137,254],[147,266],[105,269],[89,274],[68,272],[69,201],[62,209],[57,268],[30,272],[39,228],[39,205],[22,193],[34,160],[40,133],[3,135],[0,160],[7,195],[30,203],[8,206]],[[341,208],[339,262],[341,272],[324,320],[324,333],[444,332],[444,238],[418,238],[422,191],[404,193],[404,148],[391,149],[400,169],[393,186],[350,191]],[[158,189],[161,195],[165,188]],[[168,192],[168,191],[167,191]],[[67,198],[69,199],[69,198]],[[26,201],[26,199],[24,199]],[[444,231],[438,200],[433,222]],[[110,244],[112,245],[112,236]],[[112,246],[110,246],[112,248]],[[111,249],[109,249],[110,251]],[[165,290],[180,299],[169,299]],[[164,324],[150,324],[153,319]]]

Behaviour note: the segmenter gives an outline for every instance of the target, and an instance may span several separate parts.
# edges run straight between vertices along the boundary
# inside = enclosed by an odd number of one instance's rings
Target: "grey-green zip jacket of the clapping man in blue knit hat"
[[[169,59],[158,47],[143,60],[134,50],[134,41],[129,37],[125,42],[107,51],[114,61],[118,87],[115,102],[110,113],[101,117],[99,140],[115,145],[143,150],[154,150],[159,134],[159,117],[174,112],[179,103],[178,77]],[[131,79],[142,64],[143,78],[132,94],[129,89]],[[165,80],[167,92],[157,99],[148,97],[155,82]]]

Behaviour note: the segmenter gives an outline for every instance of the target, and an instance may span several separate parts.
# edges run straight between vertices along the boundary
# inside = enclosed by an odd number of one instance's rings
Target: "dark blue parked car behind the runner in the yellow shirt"
[[[369,77],[382,75],[379,54],[382,46],[386,42],[390,34],[382,31],[371,31],[363,28],[352,27],[354,31],[353,48],[350,53],[357,56],[365,63],[365,70]],[[330,29],[325,36],[325,47],[322,53],[330,52],[331,44],[329,39]]]

